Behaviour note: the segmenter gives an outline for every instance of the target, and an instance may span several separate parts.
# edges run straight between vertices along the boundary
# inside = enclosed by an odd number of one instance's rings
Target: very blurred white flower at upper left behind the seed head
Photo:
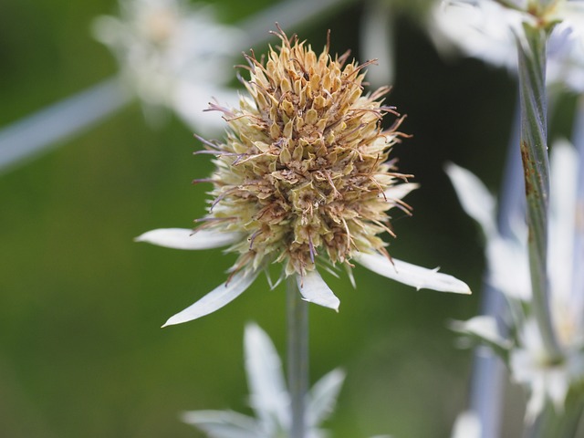
[[[237,99],[225,84],[239,31],[217,23],[209,6],[184,0],[120,0],[120,15],[98,17],[94,34],[118,58],[146,115],[168,108],[197,130],[222,126],[203,110],[209,96]]]

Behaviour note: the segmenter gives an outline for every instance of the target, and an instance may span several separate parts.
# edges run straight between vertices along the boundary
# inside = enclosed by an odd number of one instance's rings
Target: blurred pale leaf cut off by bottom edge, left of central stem
[[[181,419],[212,438],[257,438],[261,436],[255,419],[237,412],[183,412]]]

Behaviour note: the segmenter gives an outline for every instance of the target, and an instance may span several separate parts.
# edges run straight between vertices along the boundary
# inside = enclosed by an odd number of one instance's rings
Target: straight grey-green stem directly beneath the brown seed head
[[[300,297],[296,276],[287,277],[287,371],[292,424],[290,438],[306,435],[308,393],[308,303]]]

